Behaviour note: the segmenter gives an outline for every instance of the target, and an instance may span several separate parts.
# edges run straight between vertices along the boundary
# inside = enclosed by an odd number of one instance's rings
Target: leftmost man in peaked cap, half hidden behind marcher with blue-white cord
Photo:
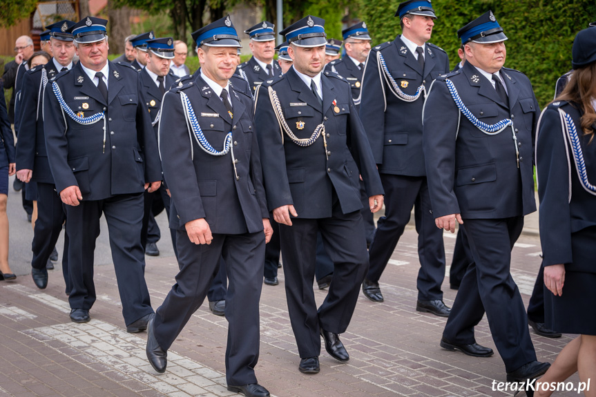
[[[54,249],[62,225],[66,220],[64,203],[56,192],[54,178],[48,163],[46,137],[44,135],[44,90],[48,79],[59,72],[73,68],[75,46],[73,35],[66,32],[75,25],[73,21],[59,21],[46,28],[50,31],[50,45],[54,57],[45,65],[28,70],[23,75],[23,88],[19,104],[19,142],[17,144],[17,177],[22,182],[37,183],[37,221],[31,249],[31,277],[37,288],[48,285],[46,264]],[[66,293],[70,293],[68,278],[68,235],[64,237],[62,273]]]

